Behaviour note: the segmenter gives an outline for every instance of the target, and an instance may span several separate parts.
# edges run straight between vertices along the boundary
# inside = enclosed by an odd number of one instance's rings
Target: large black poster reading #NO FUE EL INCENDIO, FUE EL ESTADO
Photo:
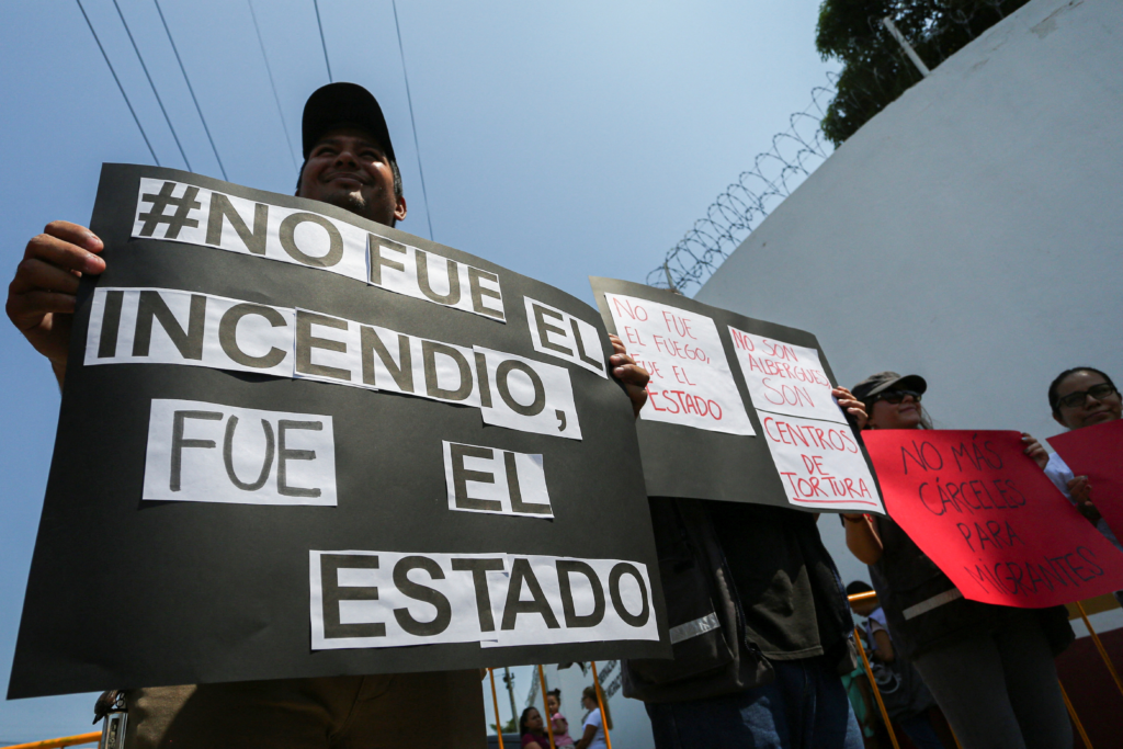
[[[668,652],[596,311],[108,165],[9,696]]]

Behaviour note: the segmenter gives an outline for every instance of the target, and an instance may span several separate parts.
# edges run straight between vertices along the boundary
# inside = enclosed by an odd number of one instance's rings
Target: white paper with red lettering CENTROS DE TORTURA
[[[848,424],[757,413],[788,502],[807,509],[885,512]]]

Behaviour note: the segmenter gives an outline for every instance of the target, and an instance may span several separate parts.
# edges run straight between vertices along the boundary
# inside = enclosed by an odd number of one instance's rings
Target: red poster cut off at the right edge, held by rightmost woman
[[[1049,438],[1075,476],[1087,476],[1092,502],[1123,537],[1123,419]]]

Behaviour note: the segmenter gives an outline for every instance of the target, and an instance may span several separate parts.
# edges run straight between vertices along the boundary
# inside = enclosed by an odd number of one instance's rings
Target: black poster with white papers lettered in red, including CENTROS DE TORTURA
[[[815,337],[669,291],[591,278],[651,373],[637,424],[651,496],[884,512]]]

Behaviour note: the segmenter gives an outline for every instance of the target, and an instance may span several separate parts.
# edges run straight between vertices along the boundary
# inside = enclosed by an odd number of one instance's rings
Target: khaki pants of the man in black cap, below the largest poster
[[[485,746],[477,669],[150,687],[125,693],[128,749]]]

